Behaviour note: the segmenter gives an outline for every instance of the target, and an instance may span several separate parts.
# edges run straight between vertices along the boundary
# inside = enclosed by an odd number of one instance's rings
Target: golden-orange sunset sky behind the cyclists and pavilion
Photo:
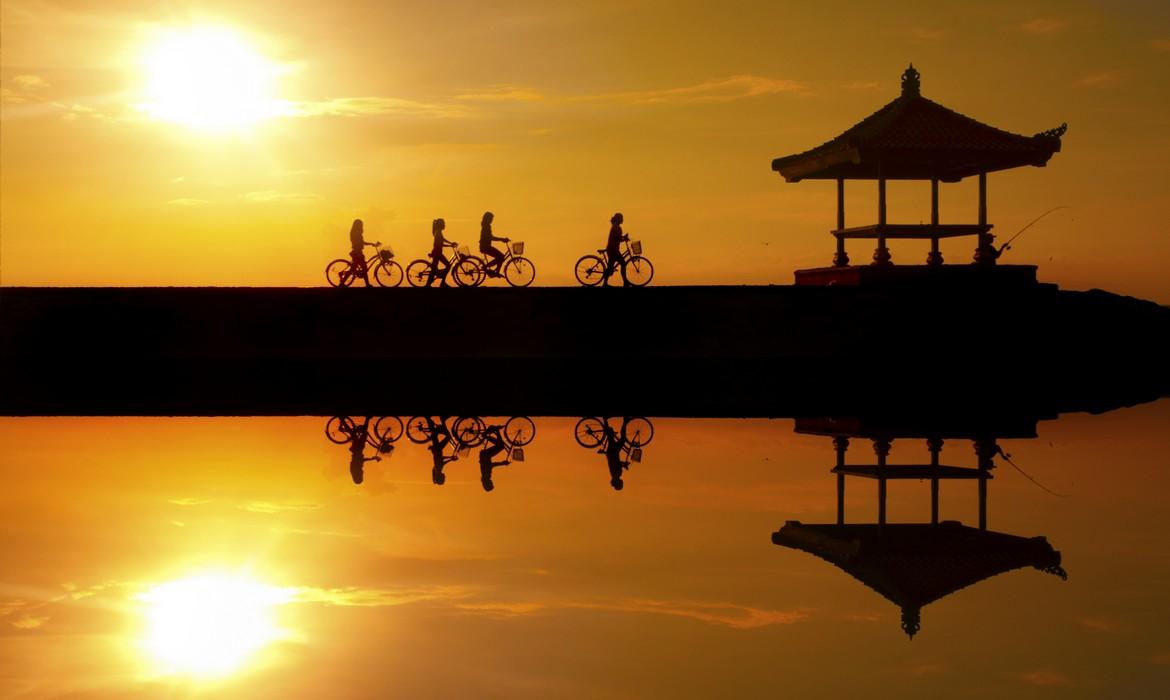
[[[144,52],[192,26],[262,56],[282,114],[207,131],[136,107]],[[830,261],[833,186],[770,160],[894,98],[913,61],[961,112],[1069,124],[1048,167],[991,176],[1002,234],[1073,207],[1007,260],[1170,301],[1161,1],[6,0],[0,32],[0,284],[316,286],[355,217],[410,260],[431,219],[473,241],[484,210],[528,241],[537,284],[570,283],[619,210],[655,283],[789,283]],[[851,188],[851,224],[874,190]],[[972,219],[973,186],[944,185],[942,206]],[[890,187],[890,220],[928,217],[928,185]]]

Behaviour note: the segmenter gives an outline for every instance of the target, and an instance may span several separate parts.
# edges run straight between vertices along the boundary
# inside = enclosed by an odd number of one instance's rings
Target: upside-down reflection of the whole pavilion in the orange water
[[[1014,426],[1017,430],[1019,426]],[[1033,424],[1034,427],[1034,424]],[[1002,432],[1002,431],[1009,432]],[[1000,426],[1000,431],[972,433],[945,426],[923,426],[897,431],[899,438],[925,438],[929,464],[888,464],[894,431],[889,426],[862,421],[797,420],[797,432],[833,438],[837,451],[837,522],[804,524],[789,521],[772,534],[772,542],[815,555],[842,569],[902,609],[902,629],[911,638],[921,626],[921,610],[955,591],[998,574],[1033,567],[1065,578],[1060,553],[1044,537],[1019,537],[987,530],[987,481],[1000,449],[997,437],[1035,437]],[[1014,434],[1013,434],[1014,432]],[[851,438],[869,439],[875,464],[846,464]],[[975,445],[976,467],[941,462],[945,439],[970,439]],[[878,522],[845,522],[845,478],[878,481]],[[901,479],[930,480],[930,522],[888,523],[887,483]],[[973,480],[979,488],[979,526],[938,520],[940,482]]]

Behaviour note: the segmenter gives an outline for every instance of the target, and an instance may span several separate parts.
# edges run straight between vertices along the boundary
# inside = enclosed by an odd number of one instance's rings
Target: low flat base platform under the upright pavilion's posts
[[[852,265],[798,269],[800,287],[1038,287],[1034,265]]]

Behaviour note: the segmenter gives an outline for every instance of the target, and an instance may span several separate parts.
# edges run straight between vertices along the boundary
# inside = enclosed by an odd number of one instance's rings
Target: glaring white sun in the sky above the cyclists
[[[142,63],[146,99],[138,107],[156,119],[225,130],[281,114],[271,95],[280,67],[230,29],[161,32]]]

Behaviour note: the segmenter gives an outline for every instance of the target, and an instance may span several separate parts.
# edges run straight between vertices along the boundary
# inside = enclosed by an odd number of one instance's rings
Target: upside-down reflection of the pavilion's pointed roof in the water
[[[1033,567],[1065,577],[1044,537],[938,524],[804,524],[789,521],[772,543],[815,555],[902,609],[917,631],[918,609],[992,576]]]

